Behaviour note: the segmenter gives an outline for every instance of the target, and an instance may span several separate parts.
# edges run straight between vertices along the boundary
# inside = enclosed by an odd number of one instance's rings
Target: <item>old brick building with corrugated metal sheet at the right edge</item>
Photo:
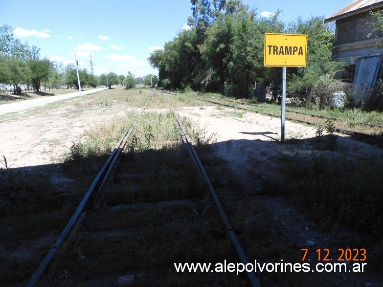
[[[383,56],[378,46],[383,35],[373,31],[376,19],[371,15],[381,9],[383,0],[355,0],[324,21],[335,21],[334,59],[348,64],[337,77],[352,89],[356,102],[367,100],[382,77]]]

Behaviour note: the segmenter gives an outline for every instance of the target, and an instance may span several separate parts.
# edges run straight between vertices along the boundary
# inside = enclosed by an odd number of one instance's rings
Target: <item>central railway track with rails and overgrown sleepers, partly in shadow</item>
[[[165,94],[162,97],[167,101]],[[169,276],[169,269],[174,269],[171,262],[180,258],[184,263],[203,262],[204,243],[214,241],[214,245],[225,246],[227,239],[235,249],[236,260],[249,263],[180,119],[170,112],[180,146],[138,149],[142,142],[135,135],[141,129],[137,123],[149,101],[150,97],[27,286],[44,286],[52,281],[91,285],[94,282],[90,279],[98,273],[122,272],[126,275],[118,280],[127,285],[190,280],[180,274]],[[150,145],[153,134],[149,128],[144,126],[145,141]],[[130,151],[126,152],[128,146]],[[260,286],[254,272],[247,272],[247,277],[251,286]],[[219,274],[206,274],[203,280],[217,282],[217,278]],[[109,279],[103,280],[98,284],[111,284]]]

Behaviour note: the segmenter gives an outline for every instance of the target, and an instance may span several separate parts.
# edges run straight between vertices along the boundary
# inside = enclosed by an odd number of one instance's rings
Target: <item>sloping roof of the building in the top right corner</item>
[[[340,9],[334,15],[324,20],[325,23],[332,22],[345,17],[357,15],[361,12],[367,12],[373,9],[383,7],[383,0],[355,0],[346,7]]]

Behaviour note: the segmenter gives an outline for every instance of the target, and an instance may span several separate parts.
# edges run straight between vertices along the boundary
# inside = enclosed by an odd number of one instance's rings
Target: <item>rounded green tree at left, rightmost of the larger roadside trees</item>
[[[53,64],[47,58],[43,60],[28,60],[27,66],[31,73],[32,85],[40,92],[41,83],[47,81],[53,70]]]

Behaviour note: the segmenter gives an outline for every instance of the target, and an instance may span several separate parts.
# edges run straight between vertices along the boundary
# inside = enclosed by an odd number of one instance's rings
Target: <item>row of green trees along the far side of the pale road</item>
[[[135,77],[128,72],[127,76],[114,72],[93,75],[87,69],[79,69],[82,87],[125,85],[129,88],[136,84],[150,86],[157,84],[158,77],[152,74]],[[22,89],[33,89],[40,92],[57,88],[79,89],[76,66],[64,65],[62,62],[50,61],[40,56],[40,48],[15,39],[10,25],[0,26],[0,84],[2,89],[11,87],[11,92],[21,95]],[[1,87],[0,87],[1,90]]]

